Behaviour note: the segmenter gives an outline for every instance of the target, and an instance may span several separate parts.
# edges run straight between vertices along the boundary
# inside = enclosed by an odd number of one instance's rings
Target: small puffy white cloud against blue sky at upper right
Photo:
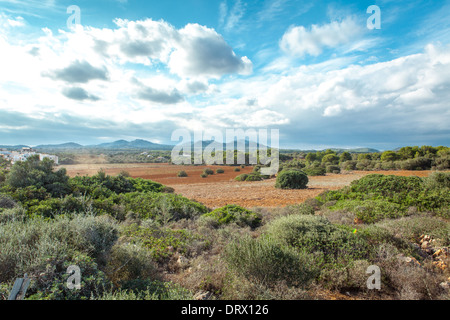
[[[351,17],[342,21],[332,21],[329,24],[312,25],[309,29],[304,26],[294,26],[283,35],[280,47],[291,55],[318,56],[325,48],[348,44],[358,39],[362,33],[361,24]]]

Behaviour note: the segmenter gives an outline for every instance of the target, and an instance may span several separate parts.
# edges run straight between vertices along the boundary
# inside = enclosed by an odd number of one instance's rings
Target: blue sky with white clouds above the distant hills
[[[0,145],[278,129],[282,148],[449,146],[449,17],[435,0],[0,0]]]

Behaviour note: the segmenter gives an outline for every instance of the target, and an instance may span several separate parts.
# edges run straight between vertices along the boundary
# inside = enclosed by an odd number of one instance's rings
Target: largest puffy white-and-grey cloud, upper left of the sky
[[[151,19],[115,22],[117,29],[87,28],[79,32],[89,36],[93,50],[103,57],[144,65],[162,62],[181,78],[252,72],[251,61],[238,56],[214,29],[198,24],[176,29]]]

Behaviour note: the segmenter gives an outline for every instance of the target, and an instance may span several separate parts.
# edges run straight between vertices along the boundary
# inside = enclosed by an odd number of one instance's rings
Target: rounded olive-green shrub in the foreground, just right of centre
[[[249,280],[270,284],[284,280],[304,286],[318,273],[313,259],[269,237],[244,237],[228,245],[225,261],[234,272]]]

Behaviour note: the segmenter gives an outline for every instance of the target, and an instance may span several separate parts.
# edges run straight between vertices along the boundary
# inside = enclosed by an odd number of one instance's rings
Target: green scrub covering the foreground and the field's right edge
[[[449,157],[416,155],[392,162],[438,169]],[[353,156],[292,159],[277,185],[304,188],[308,170],[349,161],[391,163]],[[1,169],[0,299],[24,273],[26,299],[450,299],[449,207],[448,172],[368,175],[284,208],[211,210],[126,172],[69,178],[31,158]],[[80,290],[66,285],[70,265]],[[371,265],[381,290],[367,288]]]

